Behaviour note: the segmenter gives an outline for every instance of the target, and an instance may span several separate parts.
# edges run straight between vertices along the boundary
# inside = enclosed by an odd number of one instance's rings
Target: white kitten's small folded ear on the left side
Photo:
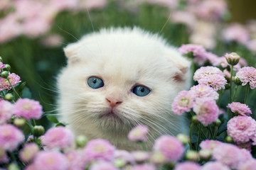
[[[69,44],[67,47],[64,47],[65,56],[68,58],[68,63],[74,64],[79,62],[78,50],[81,47],[79,42],[74,42]]]

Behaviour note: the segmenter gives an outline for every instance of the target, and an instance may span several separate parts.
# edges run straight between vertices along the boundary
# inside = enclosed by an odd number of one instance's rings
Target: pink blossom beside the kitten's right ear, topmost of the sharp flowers
[[[203,55],[206,52],[206,49],[203,45],[194,45],[194,44],[183,44],[178,48],[178,51],[181,52],[182,55],[187,55],[192,52],[193,56]]]

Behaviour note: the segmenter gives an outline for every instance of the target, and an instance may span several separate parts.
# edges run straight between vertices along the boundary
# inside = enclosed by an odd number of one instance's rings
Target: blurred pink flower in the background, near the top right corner
[[[223,29],[222,37],[226,42],[237,41],[245,44],[250,39],[250,34],[241,24],[233,23]]]

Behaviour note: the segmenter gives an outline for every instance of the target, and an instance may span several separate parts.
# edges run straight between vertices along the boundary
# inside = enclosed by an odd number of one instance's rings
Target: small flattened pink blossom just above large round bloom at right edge
[[[250,115],[252,114],[252,111],[246,104],[240,103],[240,102],[233,102],[229,103],[227,108],[230,108],[230,110],[235,113],[236,115]]]

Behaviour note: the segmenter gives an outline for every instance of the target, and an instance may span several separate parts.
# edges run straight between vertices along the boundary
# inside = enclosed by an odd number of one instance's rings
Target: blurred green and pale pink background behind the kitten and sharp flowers
[[[176,47],[200,44],[219,57],[237,52],[255,67],[255,4],[253,0],[1,0],[0,55],[11,72],[27,82],[23,97],[40,101],[46,113],[56,113],[55,77],[66,64],[63,47],[82,35],[111,26],[139,26]],[[249,106],[255,111],[253,96]]]

